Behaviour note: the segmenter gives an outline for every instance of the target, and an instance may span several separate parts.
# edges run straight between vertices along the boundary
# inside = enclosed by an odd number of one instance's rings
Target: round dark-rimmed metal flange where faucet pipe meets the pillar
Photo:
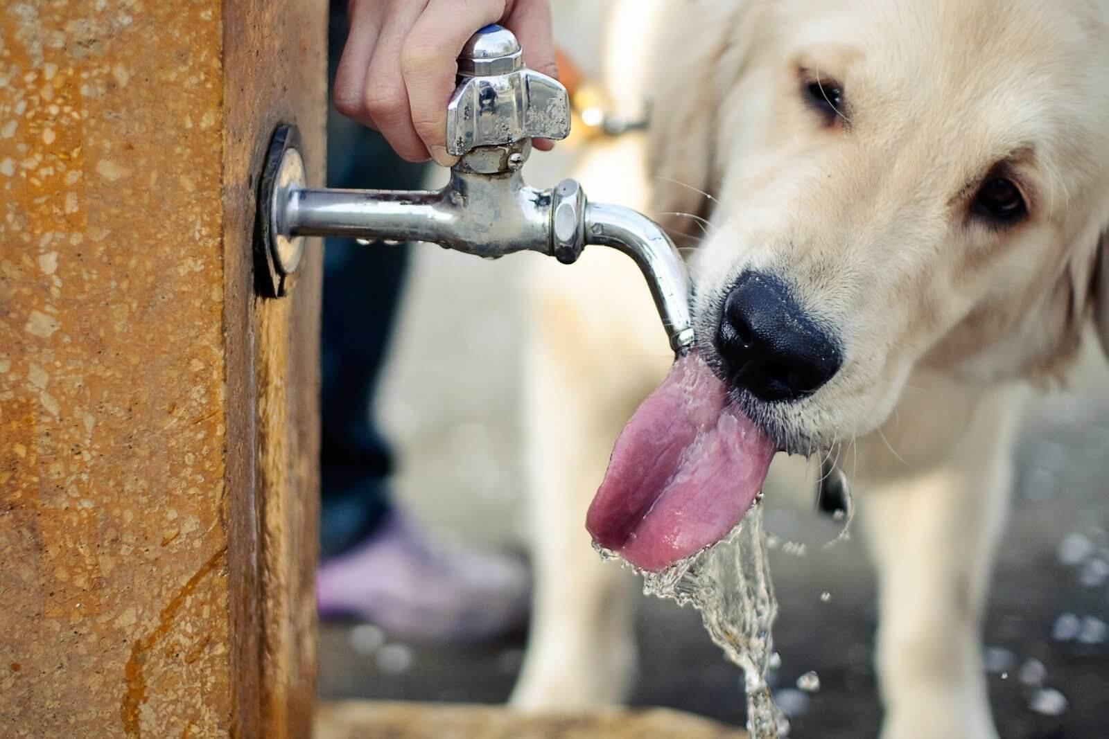
[[[281,223],[289,209],[289,195],[308,185],[299,145],[301,132],[295,125],[278,125],[258,181],[254,283],[255,289],[269,298],[288,294],[304,255],[304,236],[288,236]]]

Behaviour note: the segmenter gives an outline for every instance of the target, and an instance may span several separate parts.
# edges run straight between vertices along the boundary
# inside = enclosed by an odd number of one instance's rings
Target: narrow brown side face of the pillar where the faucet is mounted
[[[324,184],[323,132],[328,106],[327,4],[323,0],[226,3],[223,17],[227,74],[224,86],[224,233],[250,244],[258,170],[278,123],[295,123],[308,183]],[[260,706],[254,736],[311,736],[316,680],[315,566],[318,542],[318,337],[322,240],[308,239],[291,294],[281,300],[252,290],[250,249],[225,252],[228,410],[231,443],[254,434],[253,458],[228,453],[228,479],[248,479],[256,504],[231,496],[232,572],[256,565],[261,628],[235,612],[241,664],[261,655],[256,692],[236,682],[241,704]],[[246,406],[244,398],[254,403]],[[250,462],[236,466],[243,462]],[[236,506],[238,506],[236,509]],[[253,519],[256,516],[256,519]],[[257,527],[244,531],[256,521]],[[252,554],[243,542],[257,535]],[[250,587],[236,578],[233,593]],[[244,603],[243,598],[236,598]],[[248,729],[247,729],[248,731]]]

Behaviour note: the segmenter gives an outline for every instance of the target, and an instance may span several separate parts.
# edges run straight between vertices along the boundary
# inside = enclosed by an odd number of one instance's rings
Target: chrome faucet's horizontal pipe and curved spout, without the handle
[[[536,189],[520,172],[472,172],[456,165],[437,191],[318,189],[278,186],[272,233],[284,238],[342,236],[427,242],[489,259],[539,252],[572,264],[590,244],[634,260],[654,298],[670,346],[679,356],[693,346],[685,263],[665,232],[631,208],[589,203],[567,179]]]

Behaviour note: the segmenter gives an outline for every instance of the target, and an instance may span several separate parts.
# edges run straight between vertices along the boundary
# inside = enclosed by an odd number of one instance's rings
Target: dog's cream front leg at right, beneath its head
[[[979,629],[1008,503],[1015,394],[995,391],[950,424],[946,461],[861,501],[879,578],[883,739],[997,737]]]

